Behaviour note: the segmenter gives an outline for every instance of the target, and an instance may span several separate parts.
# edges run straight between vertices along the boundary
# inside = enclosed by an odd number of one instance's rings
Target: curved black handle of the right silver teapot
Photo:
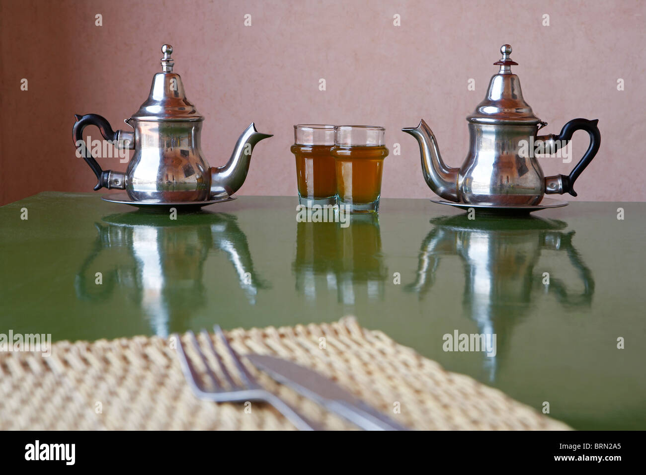
[[[570,195],[576,196],[576,191],[574,191],[574,182],[577,178],[579,178],[581,172],[585,170],[585,167],[587,167],[590,162],[592,162],[592,158],[594,158],[594,156],[599,151],[599,145],[601,144],[601,133],[599,132],[599,128],[597,127],[598,121],[598,119],[572,119],[568,123],[563,125],[563,129],[561,129],[560,134],[554,136],[554,140],[558,140],[560,143],[561,140],[570,140],[572,138],[572,135],[576,131],[586,131],[588,132],[588,134],[590,134],[590,146],[583,155],[583,158],[579,160],[579,163],[576,164],[576,167],[572,169],[568,176],[559,174],[545,177],[545,193],[559,193],[559,195],[563,195],[563,193],[570,193]]]

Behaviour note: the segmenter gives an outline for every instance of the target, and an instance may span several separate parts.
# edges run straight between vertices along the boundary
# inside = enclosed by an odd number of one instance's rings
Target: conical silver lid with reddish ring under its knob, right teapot
[[[512,47],[503,45],[500,48],[503,57],[494,63],[500,65],[498,74],[492,76],[489,82],[485,100],[477,105],[473,114],[466,120],[476,123],[541,123],[545,124],[534,115],[532,108],[523,99],[521,82],[516,74],[512,74],[512,61],[510,54]]]

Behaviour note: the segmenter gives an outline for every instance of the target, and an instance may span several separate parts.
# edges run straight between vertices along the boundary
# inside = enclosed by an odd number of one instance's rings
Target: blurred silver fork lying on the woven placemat
[[[231,356],[231,360],[238,370],[238,376],[240,377],[242,386],[234,383],[231,374],[224,364],[224,361],[222,361],[222,358],[220,357],[218,352],[216,352],[209,333],[206,330],[202,330],[202,332],[200,333],[207,341],[207,351],[211,355],[213,355],[214,359],[218,362],[220,370],[222,370],[222,375],[224,375],[224,379],[229,385],[229,388],[224,388],[224,386],[221,384],[221,381],[218,380],[213,370],[211,369],[211,366],[209,366],[207,358],[202,352],[200,344],[195,337],[195,333],[189,330],[189,332],[187,333],[187,335],[189,336],[189,341],[191,342],[191,344],[193,344],[196,354],[202,360],[202,364],[206,368],[206,374],[211,380],[214,389],[208,388],[203,383],[202,377],[200,377],[200,375],[196,371],[195,366],[191,362],[191,359],[187,356],[182,345],[182,339],[180,339],[180,336],[175,333],[174,336],[176,337],[176,341],[178,342],[177,353],[180,359],[180,366],[182,366],[182,371],[187,383],[189,383],[191,390],[193,390],[193,394],[198,397],[198,399],[202,399],[204,401],[213,401],[215,403],[242,403],[246,401],[267,403],[274,406],[274,408],[276,408],[278,412],[287,417],[287,419],[289,419],[289,421],[299,430],[320,430],[320,427],[318,427],[318,425],[307,420],[306,417],[299,414],[297,410],[280,399],[280,397],[267,391],[265,388],[256,383],[255,378],[247,371],[247,368],[244,367],[244,364],[242,364],[236,352],[233,350],[233,348],[231,348],[231,345],[227,341],[227,338],[224,336],[224,333],[222,333],[220,326],[215,325],[213,327],[213,330],[215,335],[220,338],[222,343],[224,343],[225,348],[227,348],[227,352]]]

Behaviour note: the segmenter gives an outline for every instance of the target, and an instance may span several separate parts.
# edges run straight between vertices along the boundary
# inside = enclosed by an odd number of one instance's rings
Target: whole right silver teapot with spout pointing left
[[[415,128],[402,129],[419,143],[426,184],[445,200],[465,204],[534,206],[545,193],[576,196],[574,182],[599,150],[598,120],[570,120],[558,135],[537,136],[547,123],[523,99],[518,76],[511,70],[518,64],[510,58],[512,47],[503,45],[500,50],[503,58],[494,63],[500,66],[498,74],[491,78],[485,100],[466,118],[470,145],[460,168],[444,164],[424,120]],[[583,158],[568,176],[545,177],[531,145],[540,145],[538,154],[556,153],[579,129],[590,135]]]

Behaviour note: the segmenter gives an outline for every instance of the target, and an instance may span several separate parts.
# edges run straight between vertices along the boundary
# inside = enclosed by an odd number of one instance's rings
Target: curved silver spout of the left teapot
[[[273,137],[273,135],[256,131],[253,122],[242,132],[233,153],[231,153],[229,162],[222,167],[211,167],[211,200],[227,198],[240,189],[247,178],[253,147],[260,140],[269,137]]]

